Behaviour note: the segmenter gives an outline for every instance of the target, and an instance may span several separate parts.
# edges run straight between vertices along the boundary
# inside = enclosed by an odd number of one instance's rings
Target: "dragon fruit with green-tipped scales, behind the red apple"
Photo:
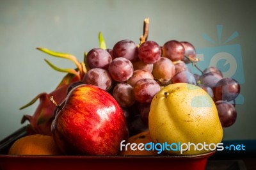
[[[101,32],[99,32],[98,38],[100,48],[106,49],[106,43]],[[50,97],[54,97],[54,101],[57,104],[61,104],[67,97],[67,89],[70,84],[72,84],[73,82],[81,81],[81,79],[83,79],[84,75],[87,72],[86,63],[84,62],[86,61],[86,52],[84,52],[84,61],[79,62],[77,58],[75,56],[72,56],[71,54],[54,52],[52,50],[42,47],[38,47],[36,49],[45,52],[50,56],[69,59],[76,65],[76,68],[59,68],[58,66],[53,65],[50,61],[45,59],[45,62],[47,63],[47,65],[51,66],[51,68],[58,72],[65,72],[67,73],[67,75],[63,77],[56,89],[54,89],[51,93],[40,93],[35,98],[33,98],[31,102],[20,107],[20,110],[25,109],[26,107],[33,105],[39,99],[39,104],[36,107],[34,114],[32,116],[30,114],[25,114],[22,117],[21,123],[29,121],[29,124],[27,126],[28,134],[51,135],[51,124],[52,120],[54,119],[54,111],[56,110],[56,105],[52,104]]]

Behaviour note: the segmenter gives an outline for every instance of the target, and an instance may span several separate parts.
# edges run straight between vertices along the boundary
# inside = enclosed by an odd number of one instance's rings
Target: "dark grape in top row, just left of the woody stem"
[[[126,58],[134,61],[137,58],[137,45],[131,40],[121,40],[113,47],[114,58]]]

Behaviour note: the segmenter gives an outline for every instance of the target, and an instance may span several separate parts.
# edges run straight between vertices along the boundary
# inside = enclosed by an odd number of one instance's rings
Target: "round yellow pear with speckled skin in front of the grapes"
[[[155,95],[150,105],[148,128],[155,143],[217,144],[223,137],[212,98],[204,89],[186,83],[170,84]],[[182,155],[209,151],[195,151],[192,147],[192,150],[184,151]],[[180,151],[166,152],[180,154]]]

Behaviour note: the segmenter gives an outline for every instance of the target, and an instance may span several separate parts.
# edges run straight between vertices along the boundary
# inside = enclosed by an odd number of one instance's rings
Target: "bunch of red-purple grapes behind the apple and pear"
[[[204,89],[216,104],[221,125],[234,124],[235,99],[240,92],[236,80],[223,77],[214,66],[200,70],[201,75],[192,73],[188,63],[196,66],[198,59],[195,47],[189,42],[170,40],[161,46],[145,36],[141,39],[139,45],[132,40],[121,40],[112,49],[90,50],[85,59],[88,72],[82,79],[82,83],[99,86],[116,99],[131,135],[147,130],[154,95],[163,86],[178,82]]]

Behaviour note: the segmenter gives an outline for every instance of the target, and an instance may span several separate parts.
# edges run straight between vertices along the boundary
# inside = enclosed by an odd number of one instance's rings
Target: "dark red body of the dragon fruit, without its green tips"
[[[56,105],[52,104],[50,97],[53,96],[57,104],[63,102],[67,97],[67,88],[69,84],[60,86],[51,93],[40,93],[38,95],[39,105],[36,107],[36,111],[32,116],[24,115],[21,123],[24,123],[26,120],[29,121],[27,127],[28,135],[31,134],[44,134],[51,135],[51,124],[54,118],[54,110]]]

